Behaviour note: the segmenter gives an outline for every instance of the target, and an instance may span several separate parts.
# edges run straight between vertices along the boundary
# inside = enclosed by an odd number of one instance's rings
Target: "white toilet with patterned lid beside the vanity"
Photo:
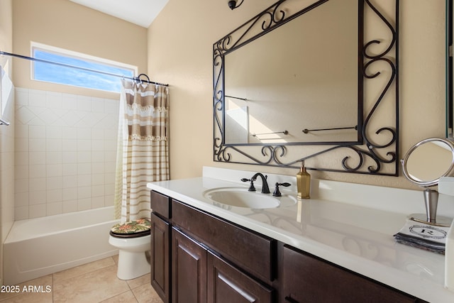
[[[138,219],[111,228],[109,243],[118,248],[117,277],[131,280],[150,272],[150,220]]]

